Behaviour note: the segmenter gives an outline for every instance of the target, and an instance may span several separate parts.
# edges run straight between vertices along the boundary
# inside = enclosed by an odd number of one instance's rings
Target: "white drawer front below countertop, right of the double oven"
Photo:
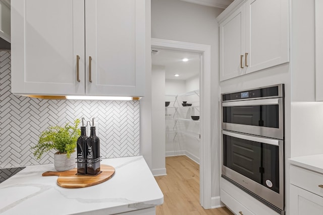
[[[323,174],[291,165],[290,181],[295,186],[323,197]],[[319,185],[322,185],[322,188]]]

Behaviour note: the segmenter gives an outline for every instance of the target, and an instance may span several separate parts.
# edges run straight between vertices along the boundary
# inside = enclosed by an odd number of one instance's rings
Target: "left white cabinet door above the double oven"
[[[242,74],[244,53],[245,5],[242,5],[220,24],[220,81]]]

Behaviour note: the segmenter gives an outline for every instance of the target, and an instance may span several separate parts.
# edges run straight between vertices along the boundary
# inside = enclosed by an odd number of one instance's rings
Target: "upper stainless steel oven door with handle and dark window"
[[[222,129],[284,139],[283,98],[222,103]]]

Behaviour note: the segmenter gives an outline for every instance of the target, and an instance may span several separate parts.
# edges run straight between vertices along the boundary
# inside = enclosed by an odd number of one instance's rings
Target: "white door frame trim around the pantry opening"
[[[151,46],[201,54],[200,64],[200,204],[211,208],[211,46],[151,38]]]

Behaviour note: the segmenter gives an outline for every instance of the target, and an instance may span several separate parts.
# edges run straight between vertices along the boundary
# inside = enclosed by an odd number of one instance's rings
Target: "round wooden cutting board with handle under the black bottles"
[[[100,165],[100,174],[96,176],[76,175],[77,168],[64,172],[47,171],[42,176],[58,176],[57,184],[65,188],[89,187],[109,180],[115,174],[115,168],[109,165]]]

